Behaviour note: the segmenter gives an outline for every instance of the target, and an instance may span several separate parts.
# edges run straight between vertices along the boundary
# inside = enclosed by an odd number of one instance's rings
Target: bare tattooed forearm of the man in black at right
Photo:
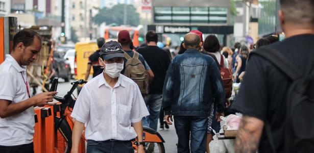
[[[235,152],[256,152],[263,126],[264,122],[262,120],[243,115],[235,140]]]

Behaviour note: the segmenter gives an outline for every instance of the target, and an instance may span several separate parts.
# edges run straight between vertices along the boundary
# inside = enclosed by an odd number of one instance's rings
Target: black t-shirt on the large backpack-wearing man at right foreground
[[[314,70],[314,35],[297,35],[270,46],[279,50],[303,74]],[[276,152],[283,152],[286,100],[292,81],[269,61],[250,55],[246,74],[236,100],[232,104],[244,115],[256,117],[271,125]],[[272,152],[263,130],[259,152]]]

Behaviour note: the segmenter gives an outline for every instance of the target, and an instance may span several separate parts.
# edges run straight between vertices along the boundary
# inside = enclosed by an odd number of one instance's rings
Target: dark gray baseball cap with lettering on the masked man
[[[104,60],[108,60],[115,57],[124,58],[124,51],[122,46],[117,41],[108,41],[103,46],[99,52],[100,56]]]

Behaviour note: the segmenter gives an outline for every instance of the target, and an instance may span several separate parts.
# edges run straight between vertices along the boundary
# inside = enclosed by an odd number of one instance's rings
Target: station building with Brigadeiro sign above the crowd
[[[229,25],[230,0],[221,1],[152,1],[152,21],[148,30],[155,30],[160,39],[171,39],[173,45],[179,45],[184,34],[190,30],[199,30],[205,36],[216,34],[220,42],[227,44],[227,36],[233,34],[233,25]]]

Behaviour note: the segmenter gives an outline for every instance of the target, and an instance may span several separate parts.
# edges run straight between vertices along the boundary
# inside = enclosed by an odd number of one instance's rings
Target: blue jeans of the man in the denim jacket
[[[206,150],[207,116],[174,116],[174,120],[178,135],[178,152],[204,153]],[[191,139],[190,145],[189,139]]]

